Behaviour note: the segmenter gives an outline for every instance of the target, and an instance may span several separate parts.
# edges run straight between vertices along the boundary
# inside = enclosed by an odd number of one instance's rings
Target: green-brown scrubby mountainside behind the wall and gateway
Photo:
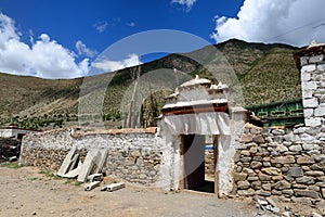
[[[166,95],[196,74],[216,82],[222,80],[234,89],[242,87],[242,104],[246,106],[300,98],[300,74],[292,59],[297,49],[233,39],[145,63],[134,95],[136,106],[144,103],[150,107],[152,94],[161,107]],[[77,114],[83,114],[110,122],[109,127],[120,127],[120,122],[114,122],[128,112],[133,69],[58,80],[0,74],[1,124],[47,129],[74,124]]]

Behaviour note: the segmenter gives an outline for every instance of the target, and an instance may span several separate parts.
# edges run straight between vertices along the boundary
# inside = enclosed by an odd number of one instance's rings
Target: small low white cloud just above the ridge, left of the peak
[[[131,67],[139,64],[141,64],[141,60],[139,55],[133,53],[128,55],[127,59],[121,61],[101,60],[93,63],[92,66],[106,73],[106,72],[122,69],[126,67]]]

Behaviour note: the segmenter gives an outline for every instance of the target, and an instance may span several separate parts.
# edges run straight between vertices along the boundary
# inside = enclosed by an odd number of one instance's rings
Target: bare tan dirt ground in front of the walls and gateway
[[[261,216],[251,200],[128,186],[84,191],[36,167],[0,167],[0,216]],[[270,215],[264,215],[270,216]]]

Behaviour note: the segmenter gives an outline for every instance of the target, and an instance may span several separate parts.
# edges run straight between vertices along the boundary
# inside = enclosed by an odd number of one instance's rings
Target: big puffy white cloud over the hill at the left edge
[[[31,33],[31,31],[30,31]],[[75,78],[87,75],[89,60],[76,63],[75,54],[48,34],[41,34],[31,46],[21,40],[14,21],[0,13],[0,72],[43,78]]]

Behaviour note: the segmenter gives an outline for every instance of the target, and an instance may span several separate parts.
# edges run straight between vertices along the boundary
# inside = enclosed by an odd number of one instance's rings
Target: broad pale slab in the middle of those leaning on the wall
[[[91,149],[86,155],[84,162],[81,166],[77,180],[80,182],[84,182],[87,177],[93,170],[95,165],[95,158],[98,157],[100,151],[98,149]]]

